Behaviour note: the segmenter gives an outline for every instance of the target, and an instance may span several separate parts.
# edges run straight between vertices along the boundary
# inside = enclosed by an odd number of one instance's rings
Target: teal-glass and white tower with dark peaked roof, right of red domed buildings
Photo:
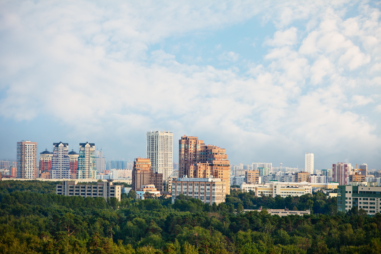
[[[77,179],[96,179],[94,143],[79,143]]]

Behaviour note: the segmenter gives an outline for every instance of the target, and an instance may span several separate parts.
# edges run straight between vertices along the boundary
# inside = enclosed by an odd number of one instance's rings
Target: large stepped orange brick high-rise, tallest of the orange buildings
[[[182,136],[179,140],[179,176],[222,178],[230,194],[230,165],[225,149],[205,145],[198,137]]]

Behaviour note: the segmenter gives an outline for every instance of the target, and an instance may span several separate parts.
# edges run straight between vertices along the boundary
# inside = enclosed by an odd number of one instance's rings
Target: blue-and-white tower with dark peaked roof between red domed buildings
[[[68,143],[53,143],[50,179],[70,179],[70,158]]]

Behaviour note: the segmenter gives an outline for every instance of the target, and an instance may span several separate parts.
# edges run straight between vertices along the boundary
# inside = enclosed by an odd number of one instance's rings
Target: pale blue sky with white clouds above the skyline
[[[231,164],[381,169],[379,1],[1,1],[0,160],[16,142],[146,157],[197,136]]]

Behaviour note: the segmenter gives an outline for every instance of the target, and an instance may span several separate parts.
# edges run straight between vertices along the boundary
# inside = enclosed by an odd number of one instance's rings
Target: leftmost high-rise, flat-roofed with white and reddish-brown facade
[[[17,142],[17,178],[37,178],[37,143]]]

